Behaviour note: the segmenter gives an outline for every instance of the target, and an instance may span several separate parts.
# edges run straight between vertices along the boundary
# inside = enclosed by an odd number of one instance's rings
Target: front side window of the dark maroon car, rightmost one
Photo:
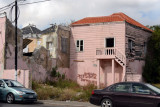
[[[132,93],[150,94],[151,91],[148,87],[146,87],[143,84],[133,84],[132,85]]]

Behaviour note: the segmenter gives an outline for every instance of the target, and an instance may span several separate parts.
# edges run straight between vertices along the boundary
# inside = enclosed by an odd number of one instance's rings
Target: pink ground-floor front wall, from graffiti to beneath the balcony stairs
[[[106,87],[122,81],[123,68],[114,61],[114,74],[112,74],[112,60],[71,60],[69,78],[85,86],[94,84]],[[114,76],[113,76],[114,75]]]

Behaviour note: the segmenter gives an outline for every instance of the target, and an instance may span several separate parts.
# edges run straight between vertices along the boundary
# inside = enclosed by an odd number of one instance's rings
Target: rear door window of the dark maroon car
[[[116,92],[130,92],[130,84],[117,84],[114,87],[114,91]]]

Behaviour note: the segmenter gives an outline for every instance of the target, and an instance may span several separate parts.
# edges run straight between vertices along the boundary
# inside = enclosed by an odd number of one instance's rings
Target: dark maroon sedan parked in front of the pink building
[[[160,107],[160,89],[147,83],[120,82],[93,90],[90,103],[101,107]]]

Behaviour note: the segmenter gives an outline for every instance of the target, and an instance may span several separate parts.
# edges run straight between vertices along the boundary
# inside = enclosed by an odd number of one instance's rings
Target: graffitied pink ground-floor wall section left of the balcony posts
[[[85,86],[98,84],[97,60],[71,60],[69,78]]]

